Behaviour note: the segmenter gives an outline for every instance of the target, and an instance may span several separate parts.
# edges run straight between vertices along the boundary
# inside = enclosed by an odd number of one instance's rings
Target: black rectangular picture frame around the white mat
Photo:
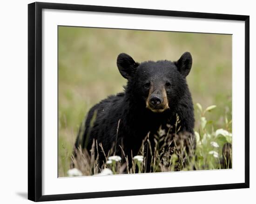
[[[183,186],[125,191],[84,192],[42,195],[42,9],[128,13],[140,15],[189,17],[245,22],[245,182]],[[249,16],[217,13],[197,13],[141,8],[103,7],[89,5],[41,3],[28,5],[28,199],[53,201],[96,197],[133,196],[188,191],[210,191],[249,188]]]

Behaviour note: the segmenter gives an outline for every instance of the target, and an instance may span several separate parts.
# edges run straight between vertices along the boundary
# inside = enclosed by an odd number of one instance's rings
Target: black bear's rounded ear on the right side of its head
[[[192,66],[191,54],[189,52],[183,53],[181,58],[175,62],[175,65],[184,77],[188,76]]]

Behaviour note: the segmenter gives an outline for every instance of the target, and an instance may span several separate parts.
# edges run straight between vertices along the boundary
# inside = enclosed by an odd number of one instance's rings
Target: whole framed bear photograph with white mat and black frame
[[[249,16],[28,5],[28,199],[249,188]]]

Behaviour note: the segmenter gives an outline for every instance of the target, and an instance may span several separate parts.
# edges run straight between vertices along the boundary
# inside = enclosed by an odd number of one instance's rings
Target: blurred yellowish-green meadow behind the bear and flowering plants
[[[177,60],[190,52],[187,77],[194,105],[216,105],[207,119],[215,129],[232,118],[232,36],[140,30],[58,27],[59,176],[69,169],[76,134],[88,110],[123,90],[126,79],[116,66],[119,53],[135,61]],[[195,105],[195,131],[200,113]]]

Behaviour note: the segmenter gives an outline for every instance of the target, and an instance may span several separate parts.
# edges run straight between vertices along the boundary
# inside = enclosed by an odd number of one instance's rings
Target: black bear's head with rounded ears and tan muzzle
[[[128,79],[127,92],[136,102],[152,112],[164,112],[175,106],[188,92],[186,76],[192,66],[189,52],[179,60],[135,62],[131,56],[121,53],[117,57],[117,67],[121,75]]]

